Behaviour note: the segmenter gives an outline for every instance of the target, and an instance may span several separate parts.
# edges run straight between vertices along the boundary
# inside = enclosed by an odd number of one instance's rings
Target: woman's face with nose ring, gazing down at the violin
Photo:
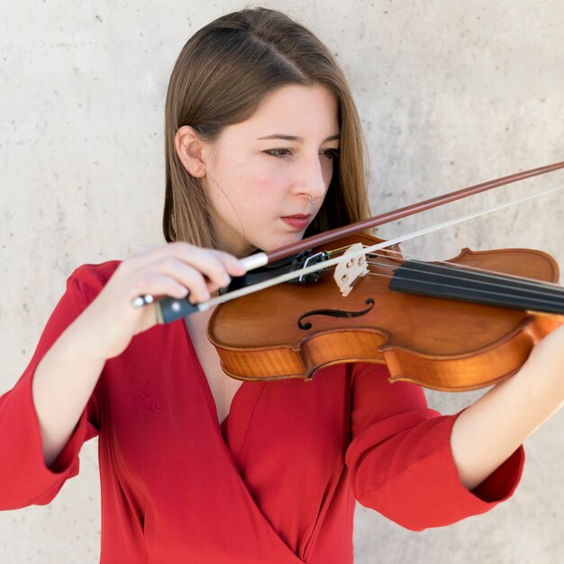
[[[337,102],[323,86],[282,86],[226,127],[203,152],[218,247],[244,256],[300,240],[323,204],[339,138]]]

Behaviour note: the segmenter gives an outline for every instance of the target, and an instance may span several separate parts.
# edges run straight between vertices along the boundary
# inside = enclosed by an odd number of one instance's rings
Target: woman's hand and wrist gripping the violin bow
[[[232,276],[246,270],[233,255],[202,249],[186,242],[145,248],[125,259],[104,289],[76,320],[87,335],[89,356],[111,359],[129,345],[134,335],[157,323],[155,305],[133,307],[138,296],[190,296],[205,302]],[[77,329],[77,327],[76,327]]]

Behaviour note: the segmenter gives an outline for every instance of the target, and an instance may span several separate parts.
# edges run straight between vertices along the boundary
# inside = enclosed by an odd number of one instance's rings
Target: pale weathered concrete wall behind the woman
[[[77,265],[161,241],[162,114],[187,37],[233,0],[7,3],[0,19],[0,390],[30,358]],[[371,153],[374,212],[564,157],[559,0],[265,1],[313,27],[356,93]],[[500,189],[387,226],[442,221],[564,175]],[[405,250],[535,247],[564,259],[562,202],[534,203],[430,235]],[[477,396],[431,393],[453,413]],[[537,564],[564,554],[562,414],[528,441],[523,483],[505,505],[441,530],[407,532],[359,508],[360,564]],[[24,468],[23,468],[24,471]],[[56,501],[0,514],[0,561],[95,562],[96,444]]]

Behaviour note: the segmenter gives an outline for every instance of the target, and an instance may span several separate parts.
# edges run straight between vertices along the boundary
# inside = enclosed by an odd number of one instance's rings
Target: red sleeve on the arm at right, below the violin
[[[482,514],[511,496],[523,470],[523,447],[469,492],[450,451],[458,415],[429,409],[420,387],[387,381],[387,369],[353,371],[352,441],[346,463],[355,496],[414,531]]]

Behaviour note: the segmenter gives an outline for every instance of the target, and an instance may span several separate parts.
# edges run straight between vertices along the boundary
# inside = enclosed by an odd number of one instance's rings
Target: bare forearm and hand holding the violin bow
[[[245,273],[238,259],[174,242],[140,250],[124,260],[96,299],[59,335],[35,369],[33,404],[49,466],[68,443],[107,359],[134,335],[157,323],[155,305],[133,307],[137,296],[186,297],[204,302],[230,276]]]

